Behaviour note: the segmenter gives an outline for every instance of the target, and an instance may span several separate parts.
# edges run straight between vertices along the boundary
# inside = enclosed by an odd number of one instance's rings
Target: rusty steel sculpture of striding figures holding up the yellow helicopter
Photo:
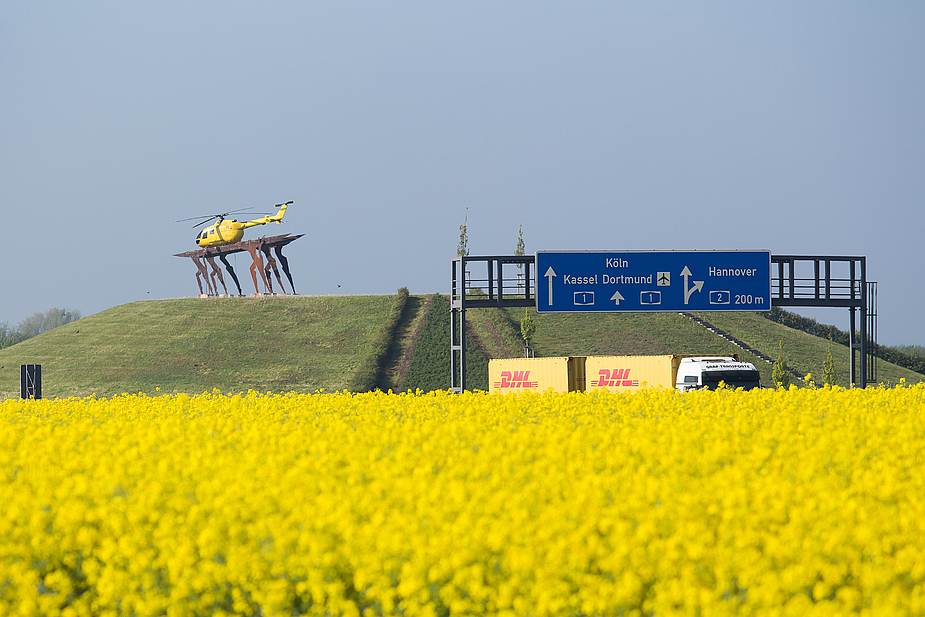
[[[196,251],[176,253],[174,257],[189,257],[193,260],[193,263],[196,264],[196,284],[199,286],[200,298],[230,297],[228,294],[228,287],[225,286],[225,279],[222,277],[222,270],[215,263],[216,257],[219,258],[225,266],[225,270],[231,275],[235,287],[238,288],[238,296],[244,296],[244,293],[241,291],[241,283],[238,281],[238,276],[235,274],[231,264],[228,263],[228,255],[233,255],[235,253],[249,253],[251,256],[253,262],[250,265],[251,279],[254,281],[254,289],[256,290],[255,294],[251,294],[252,296],[276,295],[276,292],[273,291],[273,281],[270,278],[271,272],[279,283],[283,294],[289,294],[279,275],[278,265],[282,266],[283,273],[289,281],[289,288],[292,289],[292,294],[295,295],[295,285],[292,282],[292,273],[289,271],[289,260],[283,256],[282,249],[290,242],[294,242],[304,235],[305,234],[298,234],[294,236],[292,234],[283,234],[281,236],[270,236],[269,238],[257,238],[256,240],[242,240],[234,244],[226,244],[225,246],[214,246]],[[276,257],[279,259],[278,264],[277,260],[270,254],[271,250],[276,253]],[[264,263],[264,258],[266,258],[266,263]],[[203,263],[203,261],[205,261],[205,263]],[[206,264],[208,264],[208,267]],[[211,268],[211,272],[209,268]],[[263,281],[263,289],[265,291],[261,291],[260,289],[260,284],[257,279],[258,271],[260,272],[260,280]],[[225,290],[224,294],[218,293],[218,285],[215,283],[216,278],[218,278],[218,282],[221,283],[222,288]],[[205,281],[206,289],[202,287],[203,281]]]

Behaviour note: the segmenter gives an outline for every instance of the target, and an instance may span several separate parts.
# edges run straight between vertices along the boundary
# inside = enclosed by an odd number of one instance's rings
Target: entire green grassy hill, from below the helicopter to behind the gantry
[[[368,364],[396,296],[183,299],[134,302],[0,350],[0,398],[18,397],[20,364],[41,364],[43,395],[123,392],[198,394],[249,389],[313,392],[350,387]],[[523,354],[524,309],[467,311],[471,389],[487,389],[488,358]],[[822,374],[829,342],[755,313],[697,316],[772,358],[783,352],[801,375]],[[377,386],[429,391],[449,386],[449,299],[410,296],[395,328]],[[738,354],[771,383],[771,364],[677,313],[534,313],[537,356]],[[847,385],[847,348],[832,344],[839,383]],[[888,384],[925,376],[878,362]]]

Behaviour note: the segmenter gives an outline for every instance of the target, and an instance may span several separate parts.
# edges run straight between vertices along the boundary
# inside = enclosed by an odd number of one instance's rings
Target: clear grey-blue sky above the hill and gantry
[[[866,256],[879,342],[923,345],[923,32],[911,1],[4,2],[0,324],[193,297],[172,221],[293,200],[247,237],[305,234],[303,295],[448,293],[465,223],[471,255]]]

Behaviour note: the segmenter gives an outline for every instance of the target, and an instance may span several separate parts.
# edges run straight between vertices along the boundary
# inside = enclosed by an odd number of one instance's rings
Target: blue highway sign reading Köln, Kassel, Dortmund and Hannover
[[[536,310],[770,311],[770,251],[538,252]]]

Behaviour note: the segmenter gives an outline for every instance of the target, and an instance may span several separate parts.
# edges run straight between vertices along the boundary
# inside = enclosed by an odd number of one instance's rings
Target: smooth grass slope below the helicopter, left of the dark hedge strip
[[[0,397],[41,364],[46,398],[346,388],[394,296],[134,302],[0,350]]]

